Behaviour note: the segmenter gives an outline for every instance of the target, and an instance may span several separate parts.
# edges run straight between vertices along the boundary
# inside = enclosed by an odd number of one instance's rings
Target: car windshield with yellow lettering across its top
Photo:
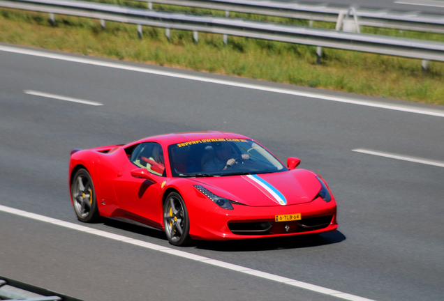
[[[168,146],[174,177],[234,176],[288,169],[249,139],[202,139]]]

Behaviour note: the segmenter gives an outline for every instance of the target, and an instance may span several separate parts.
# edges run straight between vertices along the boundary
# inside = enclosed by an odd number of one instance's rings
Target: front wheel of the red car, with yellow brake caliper
[[[171,192],[163,206],[165,234],[171,245],[184,247],[191,242],[190,220],[184,199],[177,192]]]

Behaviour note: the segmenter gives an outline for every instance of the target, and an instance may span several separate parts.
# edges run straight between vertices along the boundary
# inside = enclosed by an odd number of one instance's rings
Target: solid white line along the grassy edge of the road
[[[8,46],[2,46],[0,45],[0,51],[3,52],[12,52],[16,54],[27,54],[30,56],[39,56],[44,57],[47,59],[58,59],[61,61],[70,61],[74,63],[84,63],[89,65],[97,65],[101,67],[108,67],[108,68],[115,68],[115,69],[121,69],[121,70],[129,70],[129,71],[135,71],[135,72],[144,72],[149,73],[153,75],[163,75],[167,77],[176,77],[180,79],[190,79],[198,82],[207,82],[212,84],[223,84],[226,86],[236,86],[239,88],[250,88],[258,91],[267,91],[272,93],[281,93],[281,94],[287,94],[287,95],[295,95],[295,96],[302,96],[306,98],[317,98],[320,100],[330,100],[334,102],[345,102],[353,105],[363,105],[367,107],[377,107],[380,109],[392,109],[396,111],[406,111],[410,113],[415,114],[425,114],[425,115],[431,115],[431,116],[438,116],[438,117],[444,117],[444,110],[442,109],[428,109],[428,108],[420,108],[420,107],[414,107],[412,105],[395,105],[395,104],[389,104],[385,102],[376,102],[371,100],[361,100],[358,98],[343,98],[343,97],[335,97],[331,95],[325,95],[321,93],[311,93],[311,92],[298,92],[290,89],[285,88],[273,88],[270,86],[259,86],[254,84],[243,84],[240,82],[231,82],[228,80],[223,79],[212,79],[208,77],[200,77],[195,75],[184,75],[182,73],[177,72],[170,72],[170,71],[161,71],[161,70],[154,70],[149,68],[142,68],[142,67],[135,67],[132,65],[124,65],[121,63],[109,63],[105,61],[98,61],[95,59],[84,59],[79,58],[75,56],[68,56],[64,54],[52,54],[47,52],[40,52],[37,50],[29,50],[29,49],[20,49],[15,47],[8,47]]]

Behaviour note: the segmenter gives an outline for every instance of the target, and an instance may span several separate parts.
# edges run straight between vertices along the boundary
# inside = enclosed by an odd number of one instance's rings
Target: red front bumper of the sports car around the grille
[[[220,208],[205,198],[193,201],[193,205],[187,204],[190,236],[198,240],[297,236],[334,231],[338,227],[333,197],[328,203],[318,198],[292,206],[251,207],[233,204],[234,210]],[[276,215],[296,213],[302,215],[301,220],[275,222]]]

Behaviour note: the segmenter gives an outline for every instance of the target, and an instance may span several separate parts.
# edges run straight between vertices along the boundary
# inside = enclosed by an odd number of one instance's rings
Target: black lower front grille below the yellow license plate
[[[332,215],[325,215],[293,222],[231,222],[228,224],[228,228],[237,235],[301,233],[326,228],[332,222],[332,218]]]

